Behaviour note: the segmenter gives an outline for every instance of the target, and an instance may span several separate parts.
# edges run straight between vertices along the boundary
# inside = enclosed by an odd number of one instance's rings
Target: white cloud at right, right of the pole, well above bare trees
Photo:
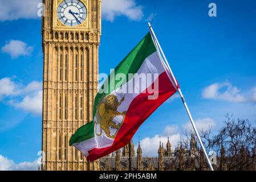
[[[248,99],[230,82],[214,83],[202,90],[202,97],[231,102],[246,102]]]

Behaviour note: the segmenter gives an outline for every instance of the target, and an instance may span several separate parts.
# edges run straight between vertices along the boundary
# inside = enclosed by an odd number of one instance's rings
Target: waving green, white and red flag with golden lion
[[[94,121],[70,139],[92,162],[124,147],[140,125],[177,92],[149,32],[112,71],[94,102]]]

